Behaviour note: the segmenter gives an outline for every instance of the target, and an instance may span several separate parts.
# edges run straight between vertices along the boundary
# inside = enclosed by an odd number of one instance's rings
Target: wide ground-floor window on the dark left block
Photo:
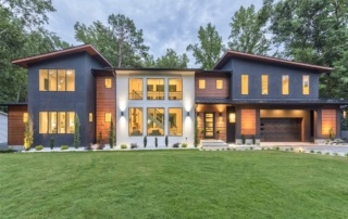
[[[74,112],[40,112],[39,133],[74,133]]]

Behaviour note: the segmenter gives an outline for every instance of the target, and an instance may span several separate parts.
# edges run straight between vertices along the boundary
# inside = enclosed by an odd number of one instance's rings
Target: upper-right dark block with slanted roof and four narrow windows
[[[215,68],[233,72],[233,99],[318,99],[320,73],[332,70],[240,52],[227,52]]]

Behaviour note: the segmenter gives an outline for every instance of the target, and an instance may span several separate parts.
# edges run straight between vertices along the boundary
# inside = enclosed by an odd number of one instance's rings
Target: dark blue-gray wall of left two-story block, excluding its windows
[[[55,146],[73,145],[74,134],[39,134],[39,112],[76,112],[80,120],[80,144],[95,141],[95,124],[88,121],[88,113],[95,115],[95,78],[91,68],[101,68],[87,53],[36,63],[28,69],[28,112],[34,117],[34,145],[49,146],[54,138]],[[39,69],[75,69],[74,92],[39,91]]]

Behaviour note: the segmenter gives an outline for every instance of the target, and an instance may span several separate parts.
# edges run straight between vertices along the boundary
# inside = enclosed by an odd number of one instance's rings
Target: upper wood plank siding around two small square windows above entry
[[[213,75],[213,73],[212,73]],[[199,80],[206,80],[206,89],[198,88]],[[229,78],[222,76],[196,76],[195,78],[196,98],[228,98]],[[216,80],[223,80],[223,89],[216,89]]]

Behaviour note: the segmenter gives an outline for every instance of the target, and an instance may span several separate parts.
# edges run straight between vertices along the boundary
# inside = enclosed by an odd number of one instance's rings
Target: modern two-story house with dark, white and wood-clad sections
[[[9,145],[22,145],[34,121],[34,145],[73,144],[74,116],[82,145],[110,121],[116,144],[194,145],[199,139],[241,143],[321,142],[340,137],[339,105],[320,99],[319,76],[331,67],[228,51],[213,69],[114,68],[92,46],[13,61],[28,69],[28,102],[9,105]],[[195,120],[197,119],[197,126]]]

